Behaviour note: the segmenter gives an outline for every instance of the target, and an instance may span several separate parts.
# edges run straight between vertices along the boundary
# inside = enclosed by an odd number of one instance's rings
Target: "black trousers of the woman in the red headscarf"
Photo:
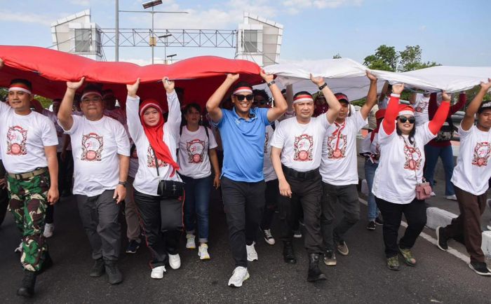
[[[135,204],[152,259],[150,267],[168,263],[168,254],[177,254],[182,233],[182,200],[161,198],[135,190]]]

